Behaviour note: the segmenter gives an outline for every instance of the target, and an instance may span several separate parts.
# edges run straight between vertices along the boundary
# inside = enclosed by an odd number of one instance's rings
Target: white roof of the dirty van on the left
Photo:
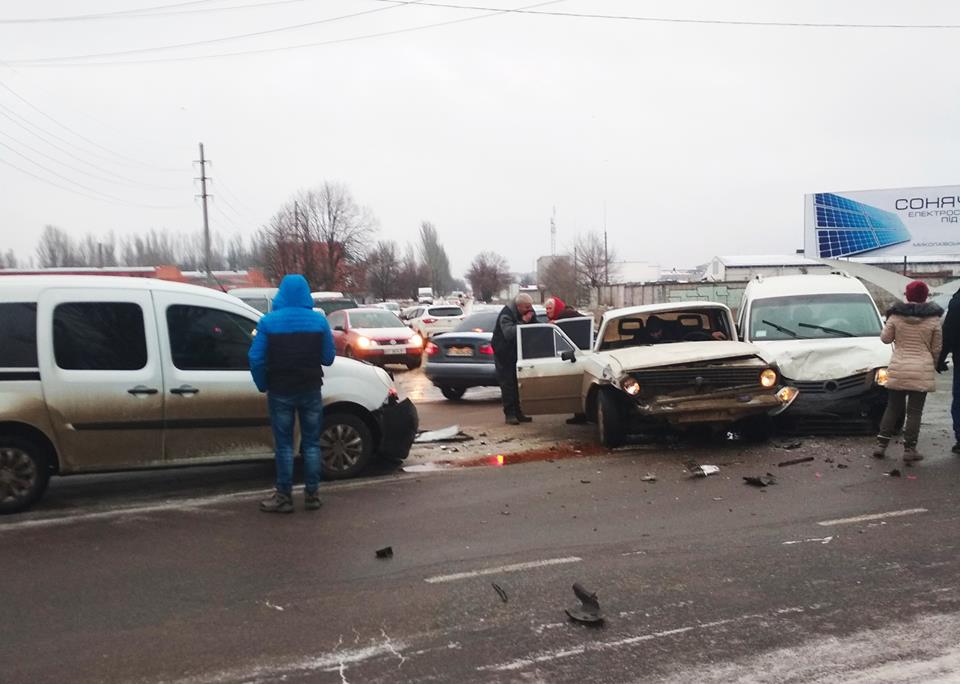
[[[240,304],[237,297],[220,290],[178,283],[158,278],[128,278],[124,276],[97,276],[97,275],[26,275],[0,277],[0,297],[8,299],[11,296],[25,299],[36,299],[40,293],[51,289],[98,289],[98,290],[140,290],[155,292],[179,292],[183,294],[199,294],[219,299],[230,304]]]

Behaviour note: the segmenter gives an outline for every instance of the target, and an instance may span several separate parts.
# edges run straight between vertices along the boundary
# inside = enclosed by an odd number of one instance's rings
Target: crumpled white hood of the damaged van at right
[[[879,337],[756,342],[798,382],[835,380],[890,363],[891,348]]]

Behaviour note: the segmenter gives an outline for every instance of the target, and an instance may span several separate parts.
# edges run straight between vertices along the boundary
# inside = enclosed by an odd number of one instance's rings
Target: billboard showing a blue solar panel
[[[960,254],[960,185],[817,192],[803,214],[807,256]]]

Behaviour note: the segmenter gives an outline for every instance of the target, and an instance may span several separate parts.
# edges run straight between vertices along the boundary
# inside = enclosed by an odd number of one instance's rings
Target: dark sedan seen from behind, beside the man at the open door
[[[427,342],[424,372],[447,399],[463,397],[470,387],[494,387],[493,326],[499,309],[467,316],[451,332]]]

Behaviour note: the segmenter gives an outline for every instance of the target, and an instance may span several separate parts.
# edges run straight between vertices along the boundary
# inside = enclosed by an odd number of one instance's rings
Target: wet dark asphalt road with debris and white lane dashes
[[[317,514],[257,512],[269,464],[65,478],[0,520],[0,681],[957,681],[946,399],[901,477],[852,437],[562,458],[592,431],[538,419],[549,460],[327,485]],[[489,399],[421,415],[503,429]],[[574,581],[603,628],[567,620]]]

